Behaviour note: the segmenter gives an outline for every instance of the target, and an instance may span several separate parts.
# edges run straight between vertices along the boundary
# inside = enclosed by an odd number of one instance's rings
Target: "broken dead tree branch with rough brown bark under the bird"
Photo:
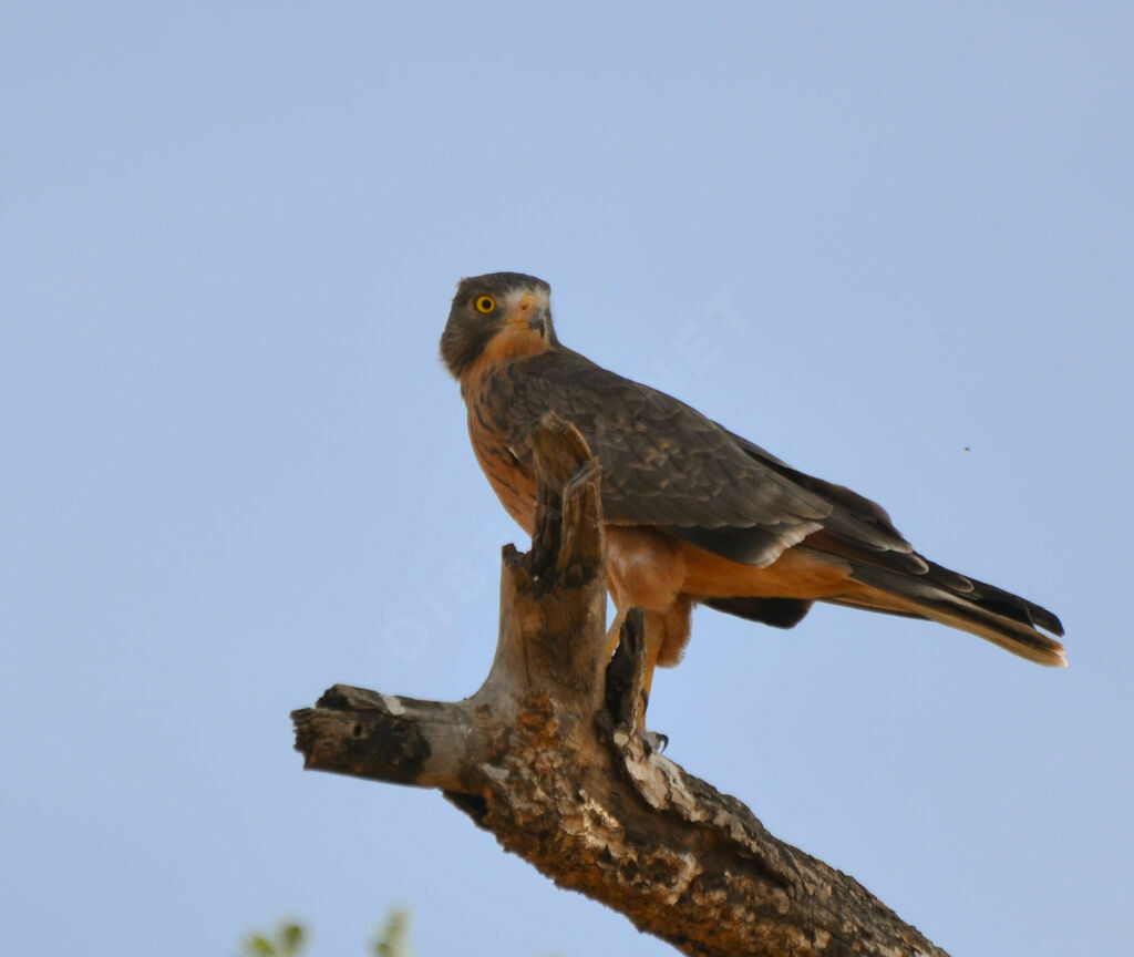
[[[503,550],[484,684],[458,702],[336,685],[291,715],[304,765],[440,788],[560,887],[683,954],[945,957],[635,730],[642,619],[607,661],[599,464],[552,416],[533,444],[536,531],[526,554]]]

